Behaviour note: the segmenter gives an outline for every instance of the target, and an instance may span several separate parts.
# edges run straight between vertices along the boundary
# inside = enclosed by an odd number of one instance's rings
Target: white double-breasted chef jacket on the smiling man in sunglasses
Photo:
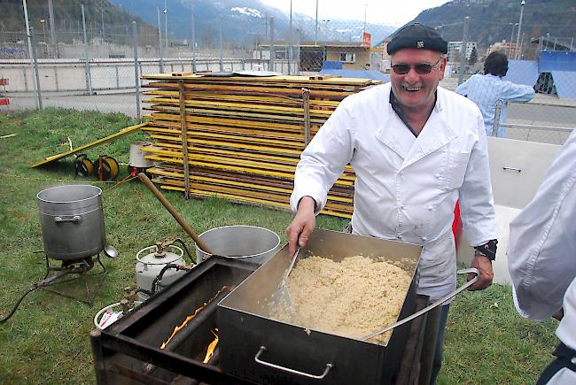
[[[393,112],[390,83],[347,96],[302,152],[292,211],[312,196],[316,213],[349,162],[354,182],[354,234],[424,245],[418,293],[440,298],[455,289],[451,232],[460,198],[472,246],[496,238],[486,131],[478,107],[438,88],[417,137]]]

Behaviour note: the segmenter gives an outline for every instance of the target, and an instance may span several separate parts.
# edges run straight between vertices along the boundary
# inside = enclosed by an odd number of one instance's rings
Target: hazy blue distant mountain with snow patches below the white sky
[[[157,7],[163,11],[162,0],[110,0],[127,12],[139,15],[157,25]],[[274,17],[276,42],[289,39],[289,15],[262,4],[260,0],[170,0],[167,3],[168,35],[175,39],[191,37],[191,19],[194,14],[196,40],[199,44],[217,44],[222,26],[222,40],[251,44],[269,41],[269,18]],[[161,13],[160,23],[164,25]],[[292,14],[294,35],[300,42],[315,41],[315,19],[303,14]],[[360,42],[363,22],[356,20],[323,20],[318,27],[318,41]],[[367,31],[372,42],[378,42],[395,28],[369,24]],[[296,38],[295,38],[296,39]]]

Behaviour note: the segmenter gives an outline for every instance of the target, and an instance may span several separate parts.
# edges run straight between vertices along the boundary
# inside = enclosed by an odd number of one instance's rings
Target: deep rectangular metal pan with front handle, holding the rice
[[[399,320],[415,312],[416,267],[422,246],[316,229],[300,258],[335,261],[384,256],[413,277]],[[243,281],[218,306],[220,359],[226,373],[257,383],[383,384],[398,372],[410,324],[393,329],[385,345],[331,335],[269,317],[291,262],[288,246]],[[311,296],[314,293],[310,293]]]

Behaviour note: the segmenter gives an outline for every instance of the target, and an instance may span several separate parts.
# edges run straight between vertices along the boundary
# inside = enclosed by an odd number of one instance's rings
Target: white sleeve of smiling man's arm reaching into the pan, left
[[[290,197],[292,212],[298,210],[302,196],[314,198],[315,213],[321,212],[326,205],[328,191],[352,158],[354,119],[348,104],[347,99],[339,104],[300,155]]]

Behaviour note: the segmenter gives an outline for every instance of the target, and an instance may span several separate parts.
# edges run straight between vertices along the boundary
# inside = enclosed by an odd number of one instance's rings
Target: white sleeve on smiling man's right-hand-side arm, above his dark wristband
[[[459,192],[463,233],[471,246],[482,245],[498,236],[486,129],[480,112],[476,119],[479,140],[471,150],[470,161]]]

